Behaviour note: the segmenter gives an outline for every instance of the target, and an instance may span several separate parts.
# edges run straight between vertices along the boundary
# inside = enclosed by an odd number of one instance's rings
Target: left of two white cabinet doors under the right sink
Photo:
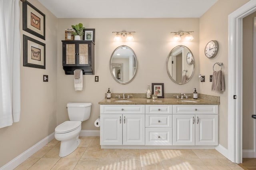
[[[195,115],[173,115],[173,145],[195,145]]]

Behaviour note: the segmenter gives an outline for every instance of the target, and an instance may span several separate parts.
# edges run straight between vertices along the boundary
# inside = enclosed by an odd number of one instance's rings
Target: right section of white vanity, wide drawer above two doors
[[[218,105],[173,105],[173,145],[218,145]]]

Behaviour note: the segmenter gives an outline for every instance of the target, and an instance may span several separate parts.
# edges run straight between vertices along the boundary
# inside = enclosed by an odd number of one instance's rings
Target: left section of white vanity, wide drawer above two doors
[[[145,105],[100,105],[100,145],[145,145]]]

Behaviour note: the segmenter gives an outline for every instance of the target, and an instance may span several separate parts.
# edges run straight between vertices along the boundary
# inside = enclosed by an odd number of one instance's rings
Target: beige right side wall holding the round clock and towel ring
[[[200,83],[200,93],[220,96],[219,107],[219,143],[228,148],[228,15],[249,0],[218,0],[200,18],[200,73],[205,75],[206,81]],[[218,54],[208,59],[204,55],[204,47],[210,40],[219,43]],[[212,66],[222,62],[226,90],[221,93],[211,91],[209,76],[212,75]],[[215,67],[218,70],[220,67]]]

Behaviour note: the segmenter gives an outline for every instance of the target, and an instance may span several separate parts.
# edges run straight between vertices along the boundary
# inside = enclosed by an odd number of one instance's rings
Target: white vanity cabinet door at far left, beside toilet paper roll
[[[100,115],[100,145],[122,145],[122,114]]]

